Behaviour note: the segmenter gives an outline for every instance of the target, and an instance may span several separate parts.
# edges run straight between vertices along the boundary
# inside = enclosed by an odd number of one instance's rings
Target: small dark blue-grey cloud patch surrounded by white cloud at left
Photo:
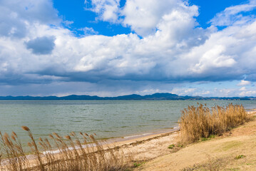
[[[34,38],[33,40],[25,42],[26,48],[31,49],[34,54],[46,55],[51,54],[55,46],[55,37],[43,36]]]

